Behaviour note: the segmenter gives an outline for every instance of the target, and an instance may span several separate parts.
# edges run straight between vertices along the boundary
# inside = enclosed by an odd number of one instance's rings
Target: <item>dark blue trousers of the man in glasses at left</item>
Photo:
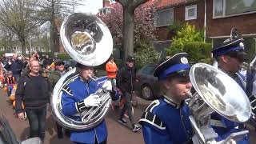
[[[26,115],[30,123],[30,138],[45,138],[46,131],[46,106],[40,109],[26,109]]]

